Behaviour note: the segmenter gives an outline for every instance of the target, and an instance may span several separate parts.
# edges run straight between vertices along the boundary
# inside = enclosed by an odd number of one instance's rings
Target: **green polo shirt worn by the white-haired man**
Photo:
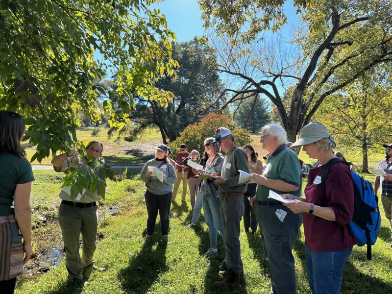
[[[268,158],[268,164],[264,167],[263,173],[266,178],[282,180],[298,187],[295,191],[283,192],[268,188],[263,185],[257,185],[256,198],[259,201],[275,201],[268,199],[270,190],[277,194],[290,193],[294,196],[301,196],[302,174],[298,157],[295,152],[288,149],[286,144],[279,146]]]

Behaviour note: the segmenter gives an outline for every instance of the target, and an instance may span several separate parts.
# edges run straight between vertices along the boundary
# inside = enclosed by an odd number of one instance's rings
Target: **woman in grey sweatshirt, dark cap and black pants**
[[[150,159],[145,164],[140,178],[146,183],[146,205],[147,205],[147,235],[146,241],[151,240],[152,233],[155,228],[156,217],[161,218],[161,233],[164,241],[169,240],[169,212],[172,204],[173,184],[177,180],[177,175],[168,158],[168,147],[164,144],[156,148],[155,158]],[[159,174],[152,175],[152,170],[157,168],[163,172],[163,176]]]

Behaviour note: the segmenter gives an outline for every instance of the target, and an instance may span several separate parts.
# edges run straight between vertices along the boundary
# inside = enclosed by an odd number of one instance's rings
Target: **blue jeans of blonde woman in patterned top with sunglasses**
[[[211,194],[203,194],[201,199],[204,211],[204,220],[208,225],[208,235],[210,235],[210,246],[218,245],[218,231],[224,241],[224,230],[221,217],[221,205],[219,199],[215,199]]]

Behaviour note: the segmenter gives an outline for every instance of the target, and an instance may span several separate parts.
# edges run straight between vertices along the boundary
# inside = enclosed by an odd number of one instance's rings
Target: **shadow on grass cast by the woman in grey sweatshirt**
[[[154,234],[153,240],[145,242],[140,252],[132,256],[128,266],[118,273],[125,293],[147,293],[159,275],[169,270],[166,247],[167,243],[157,240]]]

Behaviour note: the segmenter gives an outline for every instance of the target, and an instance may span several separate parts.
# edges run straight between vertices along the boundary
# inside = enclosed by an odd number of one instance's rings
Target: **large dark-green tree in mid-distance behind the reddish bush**
[[[176,75],[164,74],[156,85],[172,92],[173,99],[163,107],[157,101],[136,97],[135,110],[129,116],[135,123],[133,136],[153,124],[159,127],[162,141],[167,144],[175,140],[186,126],[219,108],[215,101],[223,87],[216,70],[215,51],[194,38],[173,43],[172,58],[179,63]]]

